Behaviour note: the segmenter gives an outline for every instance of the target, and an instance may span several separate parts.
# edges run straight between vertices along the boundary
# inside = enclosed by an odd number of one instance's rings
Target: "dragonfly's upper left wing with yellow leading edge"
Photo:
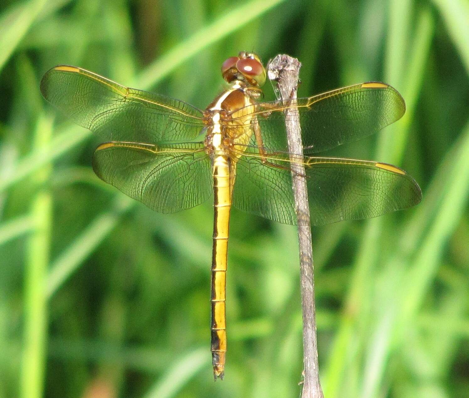
[[[109,141],[188,141],[203,127],[202,112],[189,104],[73,66],[50,69],[41,80],[41,92],[74,122]]]

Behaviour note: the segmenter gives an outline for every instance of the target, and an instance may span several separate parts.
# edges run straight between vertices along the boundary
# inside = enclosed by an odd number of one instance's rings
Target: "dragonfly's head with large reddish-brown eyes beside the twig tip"
[[[252,87],[263,86],[266,79],[265,68],[260,58],[257,54],[246,51],[223,62],[221,74],[228,83],[240,80]]]

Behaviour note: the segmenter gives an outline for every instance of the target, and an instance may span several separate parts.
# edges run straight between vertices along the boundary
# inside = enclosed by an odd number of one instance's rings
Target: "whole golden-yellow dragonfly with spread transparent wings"
[[[227,88],[205,110],[60,65],[45,73],[44,98],[105,141],[92,168],[99,178],[161,213],[213,195],[211,352],[223,379],[227,352],[226,273],[231,207],[297,224],[293,178],[305,178],[311,224],[379,216],[418,204],[416,181],[379,161],[319,157],[397,121],[405,112],[389,84],[367,82],[295,100],[261,102],[265,68],[240,52],[221,66]],[[295,109],[295,115],[286,113]],[[288,152],[285,122],[299,120],[303,154]],[[301,164],[304,175],[292,174]]]

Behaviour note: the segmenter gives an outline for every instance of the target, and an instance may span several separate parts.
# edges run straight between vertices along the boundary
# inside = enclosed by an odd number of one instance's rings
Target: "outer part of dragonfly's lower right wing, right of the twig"
[[[313,225],[377,217],[422,200],[415,180],[387,163],[319,157],[307,162]]]

